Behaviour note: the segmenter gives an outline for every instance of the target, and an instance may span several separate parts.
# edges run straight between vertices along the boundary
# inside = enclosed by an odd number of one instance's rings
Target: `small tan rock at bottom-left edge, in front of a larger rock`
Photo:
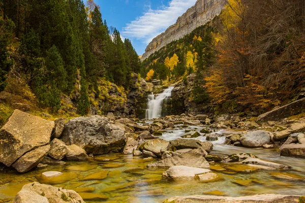
[[[41,196],[36,192],[21,190],[13,199],[12,203],[49,203],[47,197]]]

